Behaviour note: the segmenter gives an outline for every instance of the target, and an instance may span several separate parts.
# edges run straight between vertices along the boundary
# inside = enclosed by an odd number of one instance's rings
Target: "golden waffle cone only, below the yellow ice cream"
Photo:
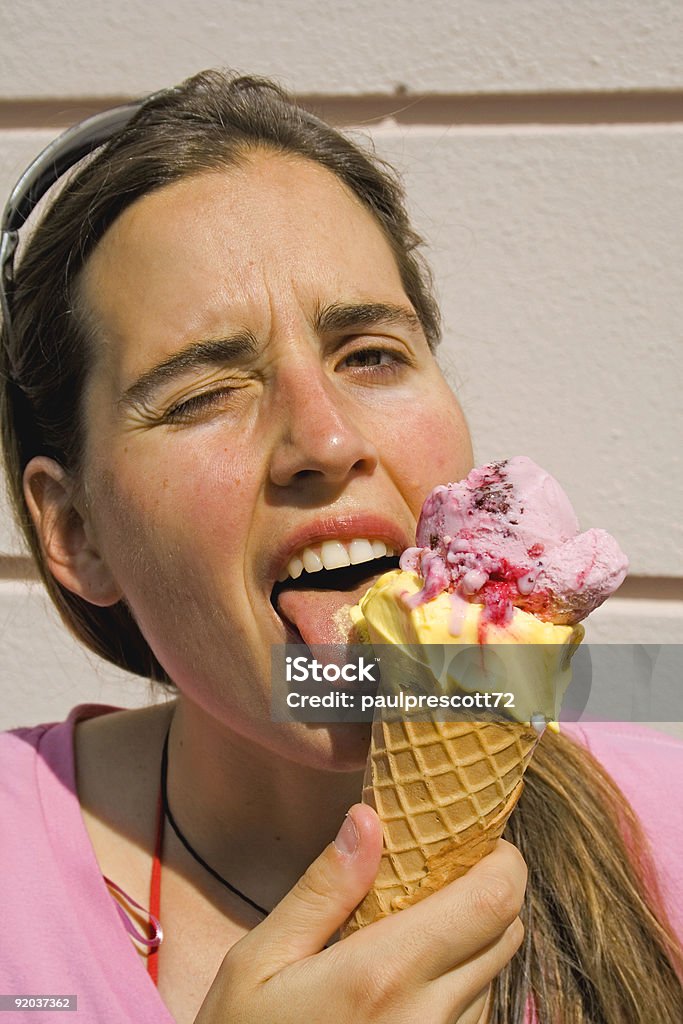
[[[343,934],[417,903],[490,853],[538,740],[518,722],[376,716],[362,799],[382,821],[384,850]]]

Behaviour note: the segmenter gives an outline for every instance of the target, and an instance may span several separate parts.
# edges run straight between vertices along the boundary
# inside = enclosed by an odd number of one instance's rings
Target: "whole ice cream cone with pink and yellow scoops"
[[[425,721],[377,695],[364,800],[382,820],[384,852],[345,932],[418,902],[493,849],[539,740],[531,723],[559,717],[578,624],[616,590],[628,560],[605,530],[580,532],[557,480],[516,456],[435,487],[400,568],[351,617],[386,690],[417,688],[423,709],[447,711]]]

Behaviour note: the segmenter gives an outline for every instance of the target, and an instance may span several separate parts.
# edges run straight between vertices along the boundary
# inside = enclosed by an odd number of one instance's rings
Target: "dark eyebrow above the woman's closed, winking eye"
[[[145,370],[123,392],[119,398],[119,406],[143,404],[157,388],[174,380],[180,374],[207,367],[245,361],[256,353],[257,348],[256,339],[248,331],[241,331],[229,338],[193,342],[163,362]]]

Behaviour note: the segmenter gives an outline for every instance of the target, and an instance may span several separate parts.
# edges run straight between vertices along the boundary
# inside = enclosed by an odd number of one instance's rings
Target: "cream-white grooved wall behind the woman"
[[[630,555],[590,637],[683,643],[681,52],[679,0],[24,0],[3,14],[0,195],[60,128],[204,67],[361,130],[428,240],[478,460],[530,455]],[[31,577],[0,508],[0,727],[146,702]]]

